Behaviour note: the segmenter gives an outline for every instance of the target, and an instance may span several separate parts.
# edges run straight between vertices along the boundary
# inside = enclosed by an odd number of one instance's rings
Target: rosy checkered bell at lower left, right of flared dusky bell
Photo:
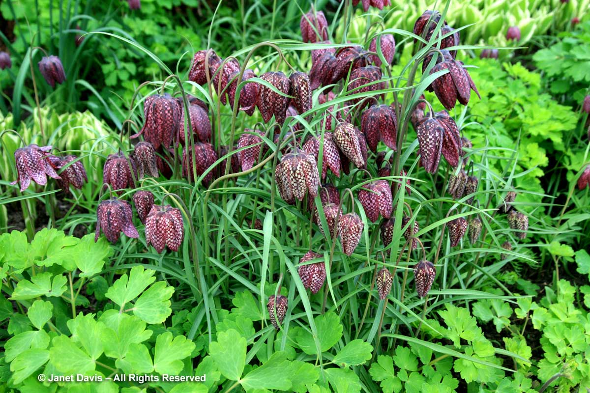
[[[184,237],[184,225],[180,209],[166,206],[152,206],[146,217],[146,243],[152,245],[158,253],[166,246],[178,251]]]

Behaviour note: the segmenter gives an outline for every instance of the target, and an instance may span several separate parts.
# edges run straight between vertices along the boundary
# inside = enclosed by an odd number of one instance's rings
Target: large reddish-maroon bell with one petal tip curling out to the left
[[[146,97],[143,107],[145,123],[139,133],[132,135],[137,138],[143,135],[143,139],[158,149],[160,145],[171,147],[178,135],[178,126],[182,115],[182,108],[178,100],[170,94],[150,95]]]

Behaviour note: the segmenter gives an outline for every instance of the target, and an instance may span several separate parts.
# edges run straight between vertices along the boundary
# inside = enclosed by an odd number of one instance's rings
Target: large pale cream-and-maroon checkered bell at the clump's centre
[[[277,165],[276,181],[281,197],[287,202],[293,198],[303,200],[307,191],[310,198],[315,198],[320,185],[317,162],[312,154],[294,148]]]

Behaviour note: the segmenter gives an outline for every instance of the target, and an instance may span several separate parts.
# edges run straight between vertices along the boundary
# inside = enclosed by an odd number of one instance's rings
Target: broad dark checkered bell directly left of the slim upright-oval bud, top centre
[[[260,75],[260,79],[267,81],[281,93],[289,95],[291,81],[283,72],[265,72]],[[260,110],[264,123],[268,123],[274,115],[277,123],[283,124],[286,118],[287,107],[289,107],[289,97],[275,93],[270,88],[261,84],[258,86],[258,100],[256,101],[256,105],[258,106],[258,110]]]

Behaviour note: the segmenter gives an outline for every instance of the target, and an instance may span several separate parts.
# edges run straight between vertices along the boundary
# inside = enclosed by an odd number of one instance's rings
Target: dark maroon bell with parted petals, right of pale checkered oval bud
[[[365,134],[369,148],[375,153],[379,140],[387,147],[397,150],[397,118],[389,105],[372,105],[363,112],[360,130]]]

